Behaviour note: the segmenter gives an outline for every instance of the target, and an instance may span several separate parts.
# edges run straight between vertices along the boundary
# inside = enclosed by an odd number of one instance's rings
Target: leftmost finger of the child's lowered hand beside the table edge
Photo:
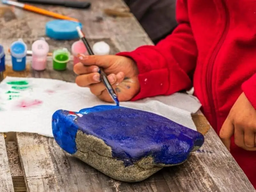
[[[230,151],[230,138],[232,137],[233,134],[234,134],[234,125],[227,118],[220,129],[220,139],[223,142],[223,144],[226,146],[228,151]]]

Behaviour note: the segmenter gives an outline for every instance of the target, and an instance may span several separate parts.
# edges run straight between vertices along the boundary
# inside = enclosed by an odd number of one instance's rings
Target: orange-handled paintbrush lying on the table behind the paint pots
[[[57,19],[71,20],[71,21],[78,22],[77,19],[65,16],[65,15],[61,15],[61,14],[58,14],[58,13],[55,13],[55,12],[47,11],[45,9],[41,9],[41,8],[29,5],[29,4],[23,4],[23,3],[19,3],[19,2],[15,2],[15,1],[10,1],[10,0],[2,0],[2,3],[3,4],[8,4],[8,5],[13,5],[15,7],[20,7],[24,10],[28,10],[28,11],[31,11],[31,12],[36,12],[36,13],[39,13],[39,14],[51,16],[51,17],[54,17],[54,18],[57,18]]]

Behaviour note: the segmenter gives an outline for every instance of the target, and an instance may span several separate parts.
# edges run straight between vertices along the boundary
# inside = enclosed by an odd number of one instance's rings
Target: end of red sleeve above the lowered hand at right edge
[[[252,106],[256,109],[256,74],[242,84],[242,90]]]

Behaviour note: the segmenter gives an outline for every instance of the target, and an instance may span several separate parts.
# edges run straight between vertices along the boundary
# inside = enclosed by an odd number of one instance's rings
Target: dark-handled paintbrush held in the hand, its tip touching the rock
[[[84,36],[82,30],[81,30],[81,28],[77,26],[77,27],[76,27],[76,30],[77,30],[77,33],[78,33],[79,37],[80,37],[81,40],[83,41],[83,43],[84,43],[84,45],[85,45],[85,47],[86,47],[86,49],[87,49],[89,55],[94,55],[94,53],[93,53],[93,51],[92,51],[92,49],[91,49],[89,43],[87,42],[87,40],[86,40],[86,38],[85,38],[85,36]],[[117,95],[116,95],[116,93],[115,93],[113,87],[111,86],[111,84],[110,84],[109,81],[108,81],[107,75],[104,73],[103,68],[99,68],[99,69],[100,69],[100,70],[99,70],[99,73],[100,73],[101,80],[102,80],[103,84],[106,86],[110,97],[114,100],[114,102],[116,103],[116,105],[119,106],[119,100],[118,100],[118,98],[117,98]]]

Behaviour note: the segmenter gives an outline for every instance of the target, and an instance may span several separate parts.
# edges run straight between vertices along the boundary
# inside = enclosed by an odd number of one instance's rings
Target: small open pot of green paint
[[[65,70],[69,59],[70,52],[67,48],[55,50],[52,55],[53,69],[58,71]]]

